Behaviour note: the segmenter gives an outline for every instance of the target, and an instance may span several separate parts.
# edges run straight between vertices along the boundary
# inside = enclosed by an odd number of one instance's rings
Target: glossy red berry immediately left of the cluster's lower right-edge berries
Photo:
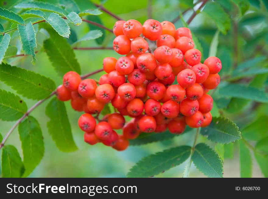
[[[184,98],[180,103],[180,113],[185,116],[191,116],[196,113],[199,109],[199,103],[197,100],[189,100]]]

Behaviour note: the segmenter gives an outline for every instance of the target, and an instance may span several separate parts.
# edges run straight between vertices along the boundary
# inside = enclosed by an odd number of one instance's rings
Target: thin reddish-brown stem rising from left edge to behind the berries
[[[96,71],[93,71],[93,72],[90,72],[86,75],[82,75],[81,76],[81,79],[85,79],[91,75],[94,75],[98,72],[101,72],[103,71],[103,69],[99,69],[99,70],[96,70]],[[7,134],[5,135],[5,137],[3,138],[1,144],[0,144],[0,149],[5,145],[5,142],[6,140],[8,139],[9,135],[12,133],[12,131],[15,130],[15,128],[23,121],[23,119],[27,116],[29,116],[29,114],[34,110],[36,109],[40,104],[42,104],[43,102],[45,102],[46,100],[48,100],[49,98],[51,98],[52,96],[54,96],[56,94],[56,90],[53,91],[48,97],[46,97],[45,99],[43,100],[39,100],[37,103],[35,103],[30,109],[27,110],[27,112],[21,117],[19,118],[18,121],[16,121],[16,123],[11,127],[11,129],[7,132]]]

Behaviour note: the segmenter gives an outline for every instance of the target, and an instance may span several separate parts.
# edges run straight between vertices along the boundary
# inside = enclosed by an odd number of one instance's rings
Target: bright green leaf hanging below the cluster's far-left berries
[[[53,98],[46,107],[46,115],[50,118],[47,122],[48,132],[58,149],[62,152],[77,150],[64,103]]]

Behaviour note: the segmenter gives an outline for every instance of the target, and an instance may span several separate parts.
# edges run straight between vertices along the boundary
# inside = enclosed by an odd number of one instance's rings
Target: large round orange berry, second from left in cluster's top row
[[[142,33],[143,26],[137,20],[130,19],[124,23],[122,30],[125,36],[133,39]]]

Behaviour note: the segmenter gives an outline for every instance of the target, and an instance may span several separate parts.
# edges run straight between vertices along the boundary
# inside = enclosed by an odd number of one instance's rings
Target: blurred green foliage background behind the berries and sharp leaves
[[[1,7],[12,6],[15,1],[3,1],[1,0]],[[46,1],[55,3],[56,0]],[[99,1],[93,1],[100,3]],[[143,23],[148,19],[148,2],[152,3],[152,18],[159,20],[160,22],[164,20],[172,21],[175,19],[180,12],[188,9],[191,6],[192,1],[178,1],[178,0],[136,0],[136,1],[123,1],[123,0],[108,0],[103,1],[103,6],[109,11],[120,16],[122,19],[136,19]],[[194,1],[196,2],[196,1]],[[220,2],[223,6],[227,5],[223,1]],[[228,1],[229,2],[229,1]],[[87,5],[87,1],[83,1],[84,5]],[[266,56],[266,58],[260,63],[263,67],[267,66],[267,8],[263,2],[250,1],[250,7],[245,14],[240,14],[237,7],[224,7],[226,12],[231,18],[231,28],[228,30],[227,34],[224,35],[220,33],[219,45],[217,56],[222,61],[222,71],[220,73],[221,78],[228,77],[231,74],[232,67],[236,63],[242,63],[243,61],[255,58],[258,56]],[[8,7],[7,7],[8,8]],[[86,8],[85,8],[86,9]],[[15,9],[16,11],[16,9]],[[186,12],[184,19],[187,20],[191,14],[192,9]],[[104,26],[112,29],[115,19],[106,13],[99,16],[101,18]],[[2,22],[2,20],[1,20]],[[237,24],[238,28],[238,54],[234,52],[234,23]],[[4,24],[4,23],[3,23]],[[175,23],[176,28],[182,26],[182,22],[178,20]],[[82,23],[81,26],[76,27],[70,24],[71,27],[71,37],[76,33],[77,38],[83,37],[90,29],[88,24]],[[34,25],[35,30],[38,30],[38,24]],[[217,27],[213,23],[213,20],[204,15],[202,12],[198,14],[195,19],[190,23],[189,28],[199,39],[203,47],[203,58],[208,57],[209,47],[213,35],[215,34]],[[75,33],[74,33],[75,32]],[[104,39],[103,45],[111,47],[112,41],[115,38],[113,34],[108,31],[105,32],[106,37]],[[15,32],[12,37],[18,36]],[[56,85],[62,83],[62,79],[56,74],[53,69],[51,62],[44,51],[42,51],[43,42],[42,33],[37,32],[37,45],[39,52],[36,54],[36,64],[33,66],[31,64],[30,56],[22,56],[16,58],[9,58],[4,61],[10,65],[16,65],[18,67],[26,68],[28,70],[40,73],[41,75],[50,77],[56,82]],[[20,54],[21,44],[18,39],[11,40],[11,45],[18,48],[17,54]],[[79,47],[94,47],[98,46],[96,41],[83,41],[79,44]],[[260,49],[260,50],[259,50]],[[113,50],[75,50],[76,58],[81,66],[82,74],[94,71],[102,67],[102,60],[105,57],[115,57],[119,58],[120,55],[116,54]],[[103,73],[99,73],[93,76],[93,78],[98,79]],[[247,85],[250,81],[254,80],[255,76],[238,79],[239,83]],[[257,77],[255,81],[262,81],[263,88],[267,88],[267,74],[261,74]],[[223,82],[224,84],[224,82]],[[222,85],[222,83],[220,84]],[[0,82],[0,89],[8,90],[15,93],[9,86],[5,86]],[[215,92],[215,97],[217,98],[217,92]],[[214,98],[214,96],[213,96]],[[27,103],[28,107],[31,107],[36,101],[22,98]],[[222,100],[222,99],[221,99]],[[78,146],[76,152],[64,153],[58,150],[55,143],[52,141],[51,136],[48,134],[46,127],[46,122],[48,117],[44,113],[45,106],[48,101],[39,106],[36,110],[32,112],[32,115],[38,120],[41,125],[42,133],[44,136],[45,153],[40,164],[36,167],[33,173],[29,177],[125,177],[129,169],[135,164],[135,162],[142,159],[144,156],[163,151],[164,149],[170,148],[171,146],[178,145],[192,145],[194,141],[195,132],[188,132],[182,134],[172,140],[163,141],[160,143],[152,143],[142,146],[130,146],[126,151],[117,152],[110,147],[97,144],[90,146],[83,141],[83,132],[77,126],[77,120],[81,113],[72,110],[70,102],[66,102],[66,108],[68,117],[72,127],[72,133],[74,141]],[[230,105],[231,103],[231,105]],[[268,115],[267,104],[261,104],[256,102],[249,102],[246,106],[238,107],[239,103],[231,102],[230,99],[223,99],[221,104],[226,104],[220,106],[220,110],[217,106],[213,108],[213,114],[224,114],[230,119],[234,120],[235,123],[242,129],[243,127],[251,124],[254,120],[258,119],[262,115]],[[230,106],[227,106],[230,105]],[[0,121],[0,133],[3,135],[12,127],[14,122],[3,122]],[[258,130],[258,125],[252,129]],[[264,134],[267,136],[268,124],[263,124],[260,127]],[[243,136],[243,131],[242,131]],[[202,136],[199,136],[199,141],[204,140]],[[255,142],[252,142],[254,144]],[[21,157],[21,143],[19,141],[19,135],[17,131],[14,131],[9,137],[7,144],[14,145]],[[210,143],[214,147],[215,144]],[[232,152],[230,154],[225,154],[224,160],[224,177],[239,177],[240,176],[240,166],[239,166],[239,154],[237,143],[229,144],[234,147],[234,155]],[[232,151],[232,149],[230,149]],[[227,153],[227,151],[226,151]],[[233,157],[232,157],[233,156]],[[232,158],[231,158],[232,157]],[[158,175],[157,177],[182,177],[183,169],[185,166],[184,162],[182,165],[177,166],[169,171]],[[204,177],[195,166],[192,164],[190,177]],[[255,160],[253,162],[253,177],[263,177],[259,166],[256,164]]]

